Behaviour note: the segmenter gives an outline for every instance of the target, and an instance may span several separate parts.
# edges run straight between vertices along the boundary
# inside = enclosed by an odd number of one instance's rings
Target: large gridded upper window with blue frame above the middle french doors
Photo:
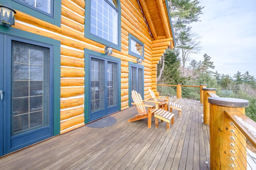
[[[85,36],[120,50],[120,4],[117,0],[86,0]],[[88,23],[88,22],[86,22]]]

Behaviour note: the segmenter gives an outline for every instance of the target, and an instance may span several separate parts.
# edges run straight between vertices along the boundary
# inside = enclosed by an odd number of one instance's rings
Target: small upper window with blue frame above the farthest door
[[[144,60],[144,44],[129,33],[129,54]]]

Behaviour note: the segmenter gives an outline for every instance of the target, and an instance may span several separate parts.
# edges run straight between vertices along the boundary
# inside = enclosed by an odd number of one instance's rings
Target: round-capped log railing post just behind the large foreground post
[[[216,88],[202,88],[204,94],[204,124],[209,125],[210,123],[210,104],[208,98],[211,97],[208,92],[216,94]]]

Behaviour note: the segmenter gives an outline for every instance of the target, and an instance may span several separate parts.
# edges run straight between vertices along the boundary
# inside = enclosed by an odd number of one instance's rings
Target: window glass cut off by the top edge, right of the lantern
[[[26,6],[36,8],[48,14],[52,14],[52,4],[54,0],[15,0],[25,3]]]

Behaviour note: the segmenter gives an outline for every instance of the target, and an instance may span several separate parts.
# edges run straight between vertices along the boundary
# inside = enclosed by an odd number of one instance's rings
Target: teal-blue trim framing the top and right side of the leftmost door
[[[14,27],[4,27],[0,25],[0,33],[10,36],[27,39],[30,42],[36,41],[46,45],[53,46],[53,98],[52,98],[52,122],[53,122],[53,136],[60,134],[60,41],[37,35],[34,33],[22,31]]]

